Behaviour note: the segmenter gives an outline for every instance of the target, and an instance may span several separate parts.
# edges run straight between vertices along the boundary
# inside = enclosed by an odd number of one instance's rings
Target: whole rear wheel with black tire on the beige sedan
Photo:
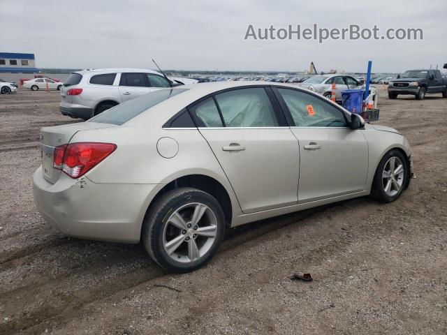
[[[198,221],[194,213],[202,213]],[[212,195],[196,188],[176,188],[151,205],[141,238],[147,253],[161,267],[184,273],[210,261],[225,229],[222,207]]]

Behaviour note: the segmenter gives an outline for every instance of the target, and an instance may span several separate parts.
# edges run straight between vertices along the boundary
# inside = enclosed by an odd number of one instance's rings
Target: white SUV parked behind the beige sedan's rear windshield
[[[166,80],[161,73],[141,68],[76,71],[64,82],[59,110],[87,120],[119,103],[178,84]]]

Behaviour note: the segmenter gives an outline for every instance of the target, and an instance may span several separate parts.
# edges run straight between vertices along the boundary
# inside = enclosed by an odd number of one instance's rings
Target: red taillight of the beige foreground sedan
[[[116,144],[111,143],[64,144],[54,149],[53,167],[76,179],[98,165],[115,149]]]

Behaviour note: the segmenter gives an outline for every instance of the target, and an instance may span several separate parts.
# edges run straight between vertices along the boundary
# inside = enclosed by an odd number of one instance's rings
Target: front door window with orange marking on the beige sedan
[[[298,127],[345,127],[341,110],[312,94],[294,89],[278,89]]]

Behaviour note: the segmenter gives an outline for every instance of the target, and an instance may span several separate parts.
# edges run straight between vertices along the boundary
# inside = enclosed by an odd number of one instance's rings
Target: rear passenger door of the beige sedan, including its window
[[[247,214],[298,202],[298,141],[268,90],[224,91],[189,108]]]

